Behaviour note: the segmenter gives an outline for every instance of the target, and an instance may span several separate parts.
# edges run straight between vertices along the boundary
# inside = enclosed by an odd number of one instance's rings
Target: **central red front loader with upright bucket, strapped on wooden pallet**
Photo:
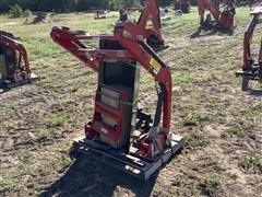
[[[152,15],[142,14],[141,23]],[[146,44],[148,31],[141,23],[117,23],[114,35],[95,36],[53,27],[51,37],[98,73],[94,116],[85,125],[85,138],[74,142],[75,149],[147,179],[182,148],[184,139],[170,130],[171,73]],[[99,42],[96,48],[95,40]],[[143,68],[156,82],[154,118],[138,107]]]

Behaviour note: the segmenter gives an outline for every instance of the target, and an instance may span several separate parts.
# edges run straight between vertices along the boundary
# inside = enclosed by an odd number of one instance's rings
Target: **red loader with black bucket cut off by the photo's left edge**
[[[0,31],[0,89],[28,83],[32,76],[24,46],[12,34]]]

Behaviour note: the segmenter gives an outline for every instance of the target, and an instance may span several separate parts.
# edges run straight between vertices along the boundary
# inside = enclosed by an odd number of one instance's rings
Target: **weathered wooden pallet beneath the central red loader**
[[[88,139],[75,139],[73,143],[76,151],[86,153],[88,157],[145,181],[168,163],[171,157],[182,149],[183,144],[184,138],[174,135],[171,148],[167,149],[165,153],[158,155],[153,161],[148,161],[135,155],[124,154],[109,146]]]

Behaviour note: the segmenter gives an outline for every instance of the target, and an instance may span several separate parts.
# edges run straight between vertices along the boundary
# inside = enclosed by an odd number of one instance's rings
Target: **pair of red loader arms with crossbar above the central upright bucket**
[[[138,36],[140,35],[140,36]],[[87,67],[98,71],[98,66],[105,59],[129,59],[140,62],[143,68],[150,72],[153,78],[164,86],[163,99],[163,128],[170,128],[171,111],[171,74],[169,68],[160,60],[154,50],[145,43],[146,33],[144,28],[134,23],[121,23],[115,27],[115,34],[88,36],[83,32],[73,32],[69,28],[53,27],[51,32],[52,39],[79,58]],[[122,50],[88,49],[84,40],[104,39],[118,42]],[[162,107],[159,107],[162,109]],[[156,114],[162,114],[157,112]]]

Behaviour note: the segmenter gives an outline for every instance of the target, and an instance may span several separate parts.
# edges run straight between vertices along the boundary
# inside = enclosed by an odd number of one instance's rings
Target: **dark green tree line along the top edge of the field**
[[[172,0],[157,0],[159,5]],[[97,9],[118,10],[119,8],[141,7],[146,0],[0,0],[0,12],[7,12],[17,4],[23,9],[41,12],[91,11]]]

